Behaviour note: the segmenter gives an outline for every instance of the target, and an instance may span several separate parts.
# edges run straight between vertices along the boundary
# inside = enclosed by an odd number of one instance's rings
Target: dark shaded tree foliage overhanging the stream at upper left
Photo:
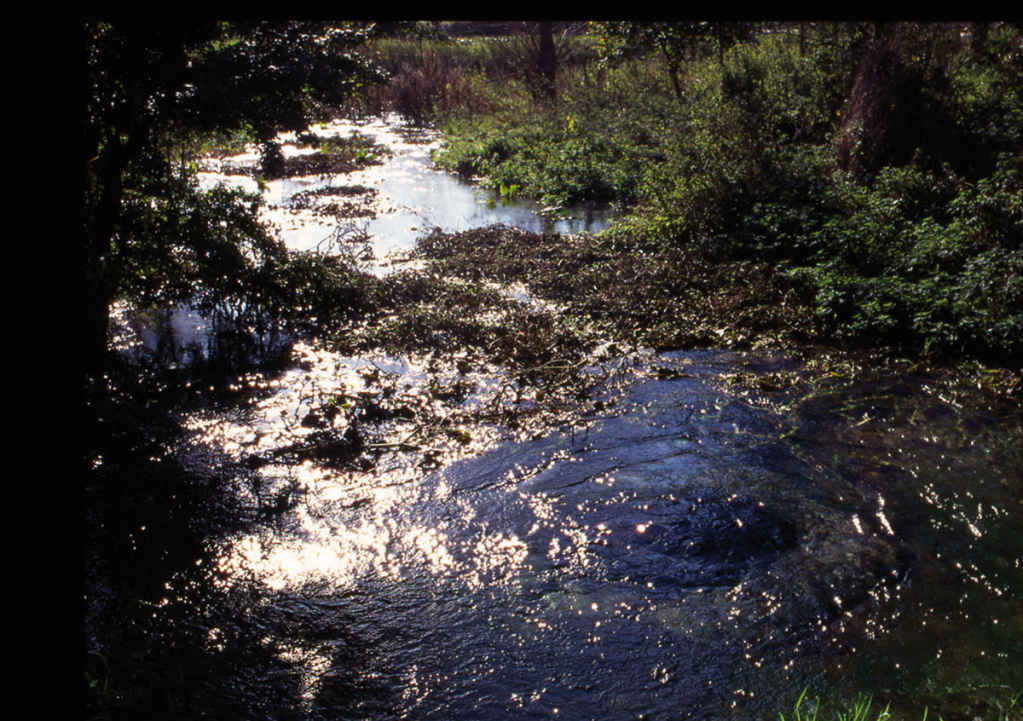
[[[252,260],[242,239],[255,242],[250,252],[272,249],[254,222],[254,198],[201,193],[182,149],[241,133],[272,156],[278,132],[308,127],[374,79],[354,52],[369,30],[267,20],[83,25],[79,260],[89,368],[101,365],[119,294],[223,274]]]

